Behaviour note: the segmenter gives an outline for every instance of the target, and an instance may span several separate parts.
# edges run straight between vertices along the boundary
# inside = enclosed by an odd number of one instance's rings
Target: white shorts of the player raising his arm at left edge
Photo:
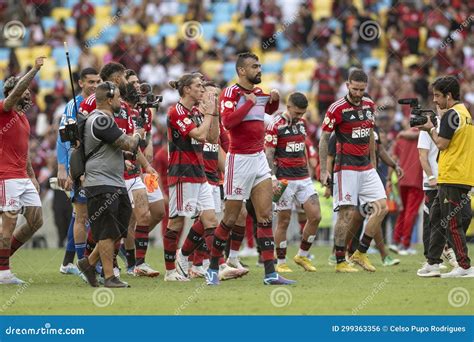
[[[0,211],[19,211],[41,207],[41,200],[29,178],[0,180]]]

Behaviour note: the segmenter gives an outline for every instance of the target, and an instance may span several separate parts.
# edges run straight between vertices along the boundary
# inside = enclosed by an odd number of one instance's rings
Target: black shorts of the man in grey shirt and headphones
[[[88,197],[87,213],[95,241],[127,237],[132,206],[123,189]]]

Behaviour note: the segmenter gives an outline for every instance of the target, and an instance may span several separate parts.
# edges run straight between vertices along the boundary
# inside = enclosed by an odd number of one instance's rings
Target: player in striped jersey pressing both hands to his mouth
[[[178,90],[180,100],[168,110],[170,197],[168,227],[163,236],[165,281],[188,281],[187,257],[180,254],[180,260],[176,262],[177,238],[185,218],[200,213],[204,238],[209,246],[212,245],[217,218],[202,152],[206,141],[217,142],[219,115],[215,113],[216,96],[209,92],[203,98],[205,89],[201,74],[184,74],[179,80],[171,81],[170,86]],[[200,111],[196,107],[198,104]],[[211,125],[215,129],[211,130]],[[195,224],[194,229],[199,227]],[[180,273],[176,266],[180,267]]]

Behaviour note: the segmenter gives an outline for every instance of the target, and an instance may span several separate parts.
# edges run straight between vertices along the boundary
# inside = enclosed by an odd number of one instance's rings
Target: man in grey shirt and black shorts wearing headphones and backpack
[[[113,83],[104,82],[97,87],[96,103],[84,127],[85,154],[95,151],[86,162],[84,189],[92,235],[98,243],[89,257],[79,260],[77,266],[89,284],[97,287],[95,265],[100,259],[105,287],[129,287],[113,273],[114,244],[127,236],[132,214],[123,179],[122,151],[137,151],[139,143],[144,142],[140,138],[143,129],[130,137],[118,128],[114,113],[120,112],[120,91]]]

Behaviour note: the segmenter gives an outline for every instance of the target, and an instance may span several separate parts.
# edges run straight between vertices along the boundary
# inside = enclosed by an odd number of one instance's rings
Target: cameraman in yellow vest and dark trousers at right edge
[[[466,231],[471,221],[468,192],[474,186],[474,125],[471,114],[460,102],[459,82],[453,76],[433,83],[433,101],[442,111],[439,133],[431,118],[420,129],[428,131],[441,151],[438,194],[430,210],[432,226],[427,263],[418,270],[420,277],[440,276],[439,264],[446,243],[453,246],[459,264],[443,278],[474,277],[468,256]]]

